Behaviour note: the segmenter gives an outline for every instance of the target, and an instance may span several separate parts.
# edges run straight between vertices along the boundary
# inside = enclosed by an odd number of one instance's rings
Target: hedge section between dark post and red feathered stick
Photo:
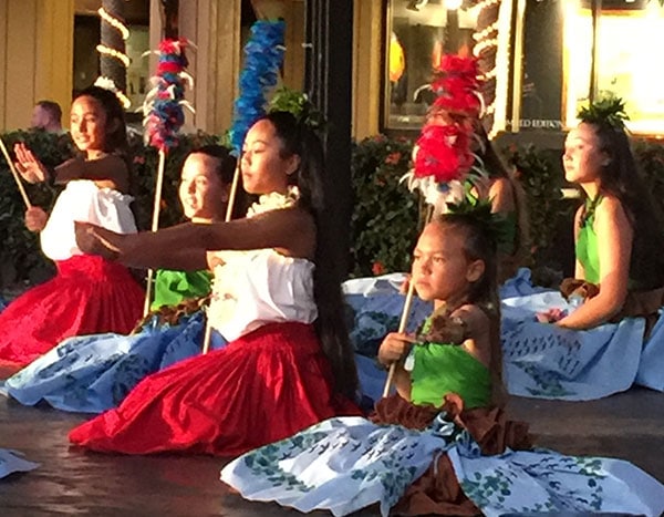
[[[354,146],[354,211],[351,219],[353,276],[411,269],[419,205],[400,178],[408,172],[413,143],[384,135]]]

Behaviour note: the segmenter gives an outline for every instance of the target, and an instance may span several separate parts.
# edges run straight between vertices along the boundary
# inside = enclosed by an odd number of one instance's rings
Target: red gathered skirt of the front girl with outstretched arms
[[[104,452],[235,456],[322,420],[359,414],[333,393],[313,328],[270,323],[145,378],[120,407],[74,428],[70,440]]]

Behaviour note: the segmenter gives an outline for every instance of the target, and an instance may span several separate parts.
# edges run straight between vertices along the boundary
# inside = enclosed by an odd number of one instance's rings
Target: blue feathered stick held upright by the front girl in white
[[[251,35],[245,46],[245,68],[240,73],[240,95],[235,102],[230,143],[237,166],[230,187],[226,220],[229,221],[240,180],[240,156],[247,132],[266,113],[267,93],[277,85],[279,69],[283,63],[286,23],[282,20],[259,20],[251,25]],[[211,327],[205,329],[203,353],[210,348]]]

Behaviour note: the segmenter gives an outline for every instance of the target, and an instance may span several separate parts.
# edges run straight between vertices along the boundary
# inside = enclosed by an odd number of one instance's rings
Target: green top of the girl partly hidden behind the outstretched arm
[[[159,269],[155,277],[155,299],[152,310],[164,306],[177,306],[188,298],[209,294],[212,276],[207,270],[172,271]]]

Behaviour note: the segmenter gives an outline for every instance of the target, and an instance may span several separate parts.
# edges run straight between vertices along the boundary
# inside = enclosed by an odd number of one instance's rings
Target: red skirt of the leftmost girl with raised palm
[[[56,266],[0,312],[0,364],[25,365],[72,335],[128,333],[141,319],[145,293],[124,266],[91,255]]]

